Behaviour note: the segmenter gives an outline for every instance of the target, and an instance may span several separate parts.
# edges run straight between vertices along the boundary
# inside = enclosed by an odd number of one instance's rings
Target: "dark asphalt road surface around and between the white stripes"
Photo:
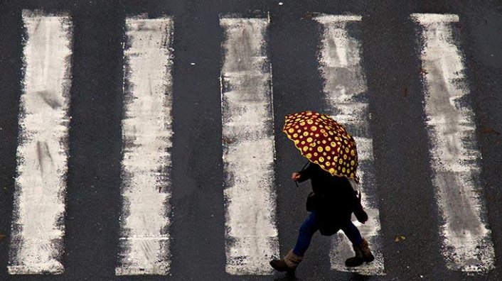
[[[289,175],[304,160],[281,128],[286,114],[325,108],[317,65],[319,26],[312,12],[354,13],[370,93],[375,184],[379,193],[384,276],[335,272],[329,238],[317,233],[297,280],[502,279],[502,2],[501,1],[0,1],[0,280],[294,280],[225,273],[221,145],[220,13],[269,12],[281,253],[294,245],[307,212],[308,184]],[[66,235],[60,276],[9,276],[22,87],[22,9],[70,11],[73,84]],[[125,16],[175,17],[171,275],[116,277],[120,203]],[[496,269],[484,275],[447,270],[434,199],[422,108],[420,56],[410,13],[456,13],[458,40],[476,114],[481,199],[492,231]],[[191,65],[195,62],[196,65]],[[396,236],[406,240],[395,242]],[[421,277],[422,276],[422,277]]]

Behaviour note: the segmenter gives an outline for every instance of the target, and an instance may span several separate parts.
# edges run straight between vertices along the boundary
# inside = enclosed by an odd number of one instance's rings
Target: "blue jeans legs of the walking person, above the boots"
[[[303,256],[306,249],[309,248],[312,236],[319,230],[319,218],[315,211],[311,212],[309,218],[304,221],[300,226],[298,234],[297,246],[294,247],[293,253],[295,255]],[[363,242],[361,233],[358,228],[352,224],[351,220],[346,221],[340,228],[353,244],[360,245]]]

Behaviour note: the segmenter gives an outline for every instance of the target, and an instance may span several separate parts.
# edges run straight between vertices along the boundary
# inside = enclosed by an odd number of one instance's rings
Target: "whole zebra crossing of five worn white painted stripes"
[[[65,177],[68,171],[68,104],[73,23],[68,13],[23,11],[26,45],[17,150],[16,192],[9,273],[62,274],[65,236]],[[366,74],[361,65],[364,18],[317,15],[321,25],[319,72],[324,79],[324,111],[345,124],[358,143],[363,202],[370,221],[357,224],[375,252],[375,262],[348,269],[348,240],[331,241],[332,270],[385,275]],[[456,15],[414,13],[420,26],[424,69],[424,114],[433,144],[434,187],[441,210],[438,224],[449,270],[493,270],[495,253],[484,203],[474,188],[481,167],[472,137],[474,111],[465,102],[469,87],[459,84],[461,48],[452,39]],[[274,65],[268,55],[273,19],[221,15],[221,115],[224,165],[225,271],[229,275],[272,275],[268,261],[279,256],[274,140]],[[173,35],[176,19],[147,15],[126,18],[124,38],[124,143],[120,216],[121,249],[116,275],[169,275],[171,270],[171,138]],[[447,54],[447,58],[438,59]],[[43,104],[43,106],[40,106]],[[277,116],[275,116],[277,117]],[[41,122],[43,121],[43,122]],[[459,195],[460,194],[460,195]],[[453,204],[452,202],[462,202]],[[282,214],[288,215],[288,214]],[[291,247],[291,246],[284,246]],[[439,250],[439,249],[438,249]]]

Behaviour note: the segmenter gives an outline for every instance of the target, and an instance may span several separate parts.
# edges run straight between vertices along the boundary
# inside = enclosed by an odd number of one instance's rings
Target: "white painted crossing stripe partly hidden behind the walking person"
[[[333,119],[345,125],[354,136],[358,149],[358,175],[361,179],[363,206],[370,219],[364,225],[357,221],[355,224],[363,238],[370,243],[375,255],[373,263],[347,268],[345,260],[353,256],[353,250],[350,241],[340,232],[333,238],[331,268],[363,275],[383,275],[378,192],[373,181],[373,139],[368,126],[368,88],[361,67],[361,44],[348,32],[348,24],[361,21],[361,17],[323,15],[314,19],[324,28],[320,70],[325,80],[324,92],[328,111],[333,112]]]

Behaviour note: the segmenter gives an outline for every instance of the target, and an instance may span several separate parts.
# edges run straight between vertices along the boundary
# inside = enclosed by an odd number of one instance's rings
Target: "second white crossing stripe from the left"
[[[170,269],[171,18],[126,19],[122,238],[116,275]]]

